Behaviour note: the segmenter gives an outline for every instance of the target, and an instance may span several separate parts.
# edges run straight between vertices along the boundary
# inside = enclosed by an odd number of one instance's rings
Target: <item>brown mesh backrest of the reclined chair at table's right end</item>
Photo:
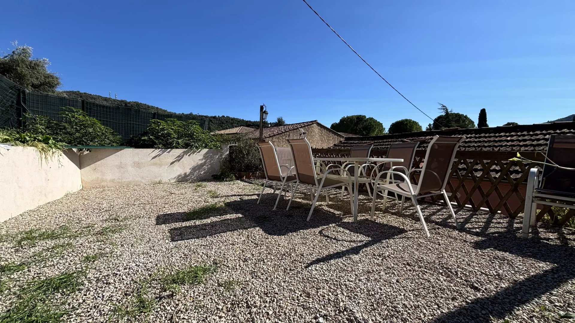
[[[453,159],[465,137],[435,136],[427,147],[416,194],[438,192],[445,189]]]

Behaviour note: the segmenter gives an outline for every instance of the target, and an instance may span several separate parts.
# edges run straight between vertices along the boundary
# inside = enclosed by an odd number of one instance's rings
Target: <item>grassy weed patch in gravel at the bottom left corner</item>
[[[24,283],[16,301],[0,314],[0,322],[62,322],[68,312],[54,309],[49,302],[55,294],[69,295],[77,291],[85,275],[84,271],[65,272]]]

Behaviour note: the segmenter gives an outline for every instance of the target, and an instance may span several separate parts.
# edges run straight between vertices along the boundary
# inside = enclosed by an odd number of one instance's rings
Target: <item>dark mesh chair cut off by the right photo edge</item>
[[[531,168],[527,177],[524,238],[529,237],[529,227],[537,223],[538,204],[575,209],[575,136],[551,134],[541,180],[539,175],[538,168]]]

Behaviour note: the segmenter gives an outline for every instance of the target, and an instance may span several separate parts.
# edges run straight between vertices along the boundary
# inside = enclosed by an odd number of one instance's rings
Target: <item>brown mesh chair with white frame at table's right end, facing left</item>
[[[401,195],[401,207],[400,214],[403,210],[403,202],[405,197],[411,198],[413,205],[417,210],[417,215],[423,225],[423,230],[425,236],[430,237],[430,233],[427,230],[427,225],[425,225],[425,220],[423,219],[423,214],[421,214],[421,207],[417,203],[418,198],[424,198],[432,195],[443,195],[443,198],[447,204],[449,211],[451,212],[451,217],[455,222],[455,226],[459,229],[459,224],[457,218],[455,218],[455,212],[453,212],[453,207],[445,191],[445,186],[447,181],[450,180],[449,175],[451,173],[451,168],[453,167],[453,159],[455,157],[455,152],[459,144],[465,140],[465,137],[440,137],[435,136],[429,146],[427,147],[427,153],[425,153],[425,160],[422,168],[416,168],[408,171],[407,174],[397,171],[382,171],[379,172],[374,180],[374,190],[383,191],[384,196],[389,192]],[[409,179],[409,175],[413,172],[420,172],[419,179],[417,183],[414,184]],[[394,183],[382,184],[381,176],[386,174],[398,175],[402,178],[402,182],[397,183],[394,179]],[[375,212],[375,198],[378,194],[373,194],[373,202],[371,205],[371,218],[374,217]]]

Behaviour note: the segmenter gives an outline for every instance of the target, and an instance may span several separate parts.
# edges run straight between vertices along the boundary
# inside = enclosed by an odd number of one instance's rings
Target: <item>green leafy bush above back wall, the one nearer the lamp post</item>
[[[196,121],[177,119],[150,120],[144,133],[132,137],[128,145],[135,148],[220,148],[220,141],[202,129]]]

